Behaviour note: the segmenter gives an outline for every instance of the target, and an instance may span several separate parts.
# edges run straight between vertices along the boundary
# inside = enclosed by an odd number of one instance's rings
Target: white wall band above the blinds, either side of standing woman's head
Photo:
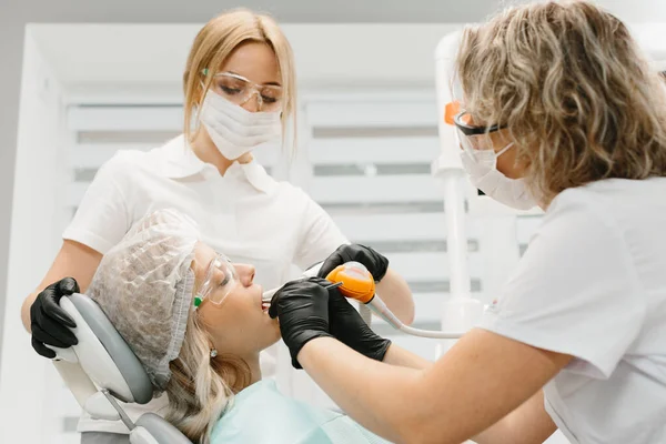
[[[282,28],[301,88],[396,84],[434,88],[433,52],[460,24],[302,24]],[[185,58],[200,24],[36,24],[39,47],[68,91],[87,100],[125,94],[180,99]],[[150,54],[150,57],[145,57]],[[165,95],[169,92],[171,97]],[[82,94],[72,95],[73,99]]]

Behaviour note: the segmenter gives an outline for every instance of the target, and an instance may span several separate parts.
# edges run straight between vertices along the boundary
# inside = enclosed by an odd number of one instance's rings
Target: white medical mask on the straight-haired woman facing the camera
[[[276,140],[282,133],[280,111],[250,112],[210,90],[201,105],[199,120],[229,160],[236,160],[256,145]]]

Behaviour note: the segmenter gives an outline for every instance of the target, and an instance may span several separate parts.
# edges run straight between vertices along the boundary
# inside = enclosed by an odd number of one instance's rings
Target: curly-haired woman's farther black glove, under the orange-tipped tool
[[[329,331],[350,349],[375,361],[384,361],[391,345],[390,340],[372,331],[337,289],[329,291]]]

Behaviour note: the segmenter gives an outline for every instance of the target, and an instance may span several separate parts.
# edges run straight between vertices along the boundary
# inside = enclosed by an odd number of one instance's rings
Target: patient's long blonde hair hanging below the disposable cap
[[[194,443],[209,444],[215,422],[250,384],[250,367],[240,357],[211,357],[211,337],[199,316],[188,317],[179,356],[171,361],[167,384],[169,411],[165,420]]]

